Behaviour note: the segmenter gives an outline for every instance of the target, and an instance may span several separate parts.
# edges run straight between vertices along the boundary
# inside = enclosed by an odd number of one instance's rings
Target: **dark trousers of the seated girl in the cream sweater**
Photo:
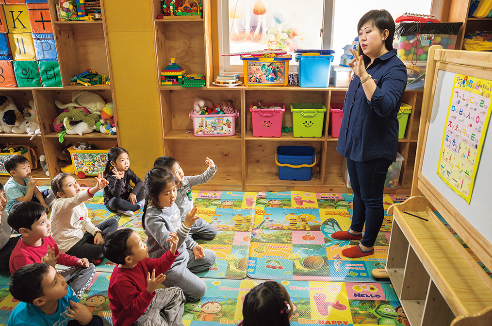
[[[118,229],[118,221],[114,218],[107,219],[99,223],[96,228],[101,230],[102,238],[104,239],[106,234]],[[89,261],[104,258],[101,246],[94,244],[94,236],[87,231],[82,236],[82,239],[74,244],[73,247],[66,252],[66,254],[78,258],[87,258]]]

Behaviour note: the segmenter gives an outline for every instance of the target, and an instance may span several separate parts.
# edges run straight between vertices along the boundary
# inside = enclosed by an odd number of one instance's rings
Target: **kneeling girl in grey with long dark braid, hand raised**
[[[203,249],[188,232],[198,219],[195,216],[196,205],[186,214],[184,222],[176,200],[176,185],[178,181],[174,174],[163,168],[153,168],[145,176],[145,193],[148,208],[142,216],[142,227],[148,236],[149,257],[161,257],[170,249],[166,242],[170,232],[178,234],[179,256],[166,273],[165,286],[178,286],[183,290],[188,301],[197,301],[205,294],[207,287],[198,273],[208,269],[215,263],[215,252]]]

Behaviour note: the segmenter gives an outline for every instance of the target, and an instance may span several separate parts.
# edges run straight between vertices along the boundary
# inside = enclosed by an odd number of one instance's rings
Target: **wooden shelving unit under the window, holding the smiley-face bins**
[[[180,162],[186,175],[202,173],[205,158],[214,160],[218,166],[214,178],[200,185],[202,190],[231,191],[286,191],[309,189],[316,192],[351,193],[342,177],[343,157],[336,151],[337,138],[331,136],[330,114],[325,113],[322,137],[294,138],[292,133],[282,133],[279,138],[253,137],[249,106],[252,102],[282,102],[285,104],[282,126],[292,127],[291,103],[343,103],[346,88],[301,88],[287,87],[217,87],[212,68],[213,56],[218,51],[211,44],[217,35],[211,35],[210,1],[204,4],[204,18],[165,17],[154,19],[156,73],[176,58],[176,62],[188,73],[205,73],[207,85],[203,88],[159,86],[160,108],[165,155]],[[153,0],[153,17],[161,13],[160,1]],[[214,40],[214,42],[212,42]],[[422,92],[405,92],[403,101],[412,106],[405,138],[399,142],[399,152],[404,161],[397,189],[385,193],[410,193],[415,152],[422,106]],[[196,137],[188,114],[194,98],[205,98],[213,103],[229,100],[240,115],[236,120],[235,135],[224,137]],[[278,179],[275,163],[277,146],[312,146],[316,152],[316,165],[309,181],[286,181]]]

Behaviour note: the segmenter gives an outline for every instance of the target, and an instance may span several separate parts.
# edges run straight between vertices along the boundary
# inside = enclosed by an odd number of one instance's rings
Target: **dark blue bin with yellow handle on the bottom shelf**
[[[280,180],[311,180],[316,153],[311,146],[278,146],[275,163]]]

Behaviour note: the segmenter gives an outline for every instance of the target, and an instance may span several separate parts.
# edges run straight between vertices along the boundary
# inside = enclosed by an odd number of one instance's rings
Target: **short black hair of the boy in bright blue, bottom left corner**
[[[32,303],[44,295],[43,281],[50,265],[41,262],[25,265],[15,271],[10,278],[9,290],[12,296],[22,302]]]

